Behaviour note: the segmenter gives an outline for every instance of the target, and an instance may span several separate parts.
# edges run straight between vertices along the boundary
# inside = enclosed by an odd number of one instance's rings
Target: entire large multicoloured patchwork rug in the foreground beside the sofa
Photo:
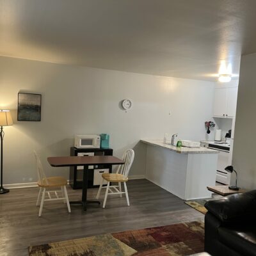
[[[181,256],[204,252],[204,223],[188,222],[29,247],[29,256]]]

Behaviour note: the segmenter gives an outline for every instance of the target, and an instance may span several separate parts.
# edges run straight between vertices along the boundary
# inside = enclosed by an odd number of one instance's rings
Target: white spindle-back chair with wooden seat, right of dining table
[[[102,174],[102,180],[101,180],[100,188],[99,188],[96,198],[99,199],[101,189],[106,188],[105,198],[104,198],[104,202],[103,202],[103,208],[105,208],[105,206],[106,206],[106,201],[107,201],[108,195],[120,195],[120,197],[122,197],[122,194],[125,194],[126,200],[127,200],[127,205],[128,206],[130,205],[126,182],[128,181],[128,174],[129,174],[132,162],[134,160],[134,151],[132,149],[127,149],[125,151],[122,159],[124,160],[125,163],[120,164],[120,166],[118,166],[116,173],[103,173]],[[104,180],[106,180],[108,182],[107,186],[105,186],[105,187],[102,186]],[[109,186],[110,182],[114,182],[114,183],[118,182],[118,186]],[[124,183],[125,192],[122,192],[122,186],[121,186],[122,183]],[[111,188],[115,189],[115,191],[113,191]]]

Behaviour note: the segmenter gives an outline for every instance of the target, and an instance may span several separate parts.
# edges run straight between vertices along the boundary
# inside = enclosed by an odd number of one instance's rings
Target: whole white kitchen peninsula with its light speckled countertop
[[[184,200],[209,198],[215,186],[218,150],[186,148],[161,140],[141,140],[147,145],[146,179]]]

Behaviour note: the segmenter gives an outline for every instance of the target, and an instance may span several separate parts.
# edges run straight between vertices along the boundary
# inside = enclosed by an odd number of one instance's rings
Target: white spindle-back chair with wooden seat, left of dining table
[[[55,200],[63,200],[64,204],[67,204],[68,212],[70,212],[70,205],[68,200],[68,193],[67,193],[67,179],[64,177],[46,177],[42,163],[40,161],[40,158],[38,154],[34,151],[36,162],[37,162],[37,175],[38,175],[38,186],[40,187],[40,191],[38,193],[36,206],[39,205],[40,197],[41,198],[41,204],[39,209],[38,216],[41,217],[42,210],[44,206],[44,201],[55,201]],[[46,189],[52,189],[52,188],[61,188],[60,191],[46,191]],[[61,197],[59,197],[58,192],[61,192]],[[45,199],[45,193],[47,193],[49,199]],[[53,193],[56,197],[52,198],[51,193]]]

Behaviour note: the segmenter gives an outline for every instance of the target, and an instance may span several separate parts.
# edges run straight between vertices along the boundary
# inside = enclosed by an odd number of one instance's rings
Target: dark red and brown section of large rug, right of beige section
[[[136,256],[181,256],[204,252],[204,223],[188,222],[112,234]]]

